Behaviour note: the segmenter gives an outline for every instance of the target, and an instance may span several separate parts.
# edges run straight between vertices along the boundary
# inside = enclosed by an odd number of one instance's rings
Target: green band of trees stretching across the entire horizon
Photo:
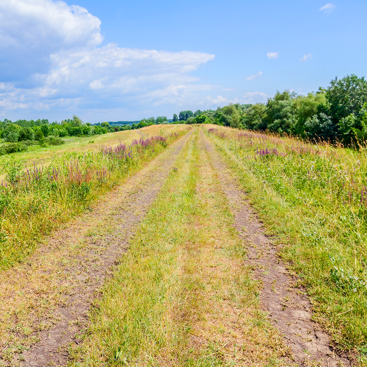
[[[58,144],[61,143],[59,138],[65,136],[82,137],[169,123],[212,123],[353,145],[367,140],[367,81],[352,74],[335,78],[327,88],[320,87],[307,95],[277,91],[266,103],[231,103],[216,110],[185,110],[174,114],[172,120],[167,116],[152,116],[140,121],[105,121],[92,125],[75,115],[72,119],[52,123],[47,119],[14,122],[4,119],[0,120],[0,138],[25,145],[32,142]]]

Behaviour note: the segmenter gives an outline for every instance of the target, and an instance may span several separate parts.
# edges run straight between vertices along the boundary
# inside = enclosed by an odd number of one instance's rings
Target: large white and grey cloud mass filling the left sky
[[[214,55],[116,44],[98,48],[100,25],[85,8],[64,1],[1,0],[0,106],[136,108],[179,103],[185,95],[212,88],[190,73]]]

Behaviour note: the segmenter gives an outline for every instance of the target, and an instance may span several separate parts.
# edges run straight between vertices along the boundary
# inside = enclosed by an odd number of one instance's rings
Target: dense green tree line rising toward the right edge
[[[336,77],[327,88],[307,95],[277,91],[266,103],[181,111],[178,121],[270,130],[351,145],[367,140],[367,81],[354,74]]]

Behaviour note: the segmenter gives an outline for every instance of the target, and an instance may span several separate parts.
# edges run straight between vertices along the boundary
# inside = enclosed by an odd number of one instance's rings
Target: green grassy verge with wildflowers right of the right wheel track
[[[366,154],[271,134],[208,128],[268,234],[279,236],[281,255],[307,286],[315,320],[327,328],[337,348],[363,355]]]

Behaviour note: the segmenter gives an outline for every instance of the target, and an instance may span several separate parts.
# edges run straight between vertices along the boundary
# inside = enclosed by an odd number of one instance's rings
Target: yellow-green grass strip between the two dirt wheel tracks
[[[182,150],[71,366],[290,366],[197,134]],[[179,167],[179,168],[176,168]]]

